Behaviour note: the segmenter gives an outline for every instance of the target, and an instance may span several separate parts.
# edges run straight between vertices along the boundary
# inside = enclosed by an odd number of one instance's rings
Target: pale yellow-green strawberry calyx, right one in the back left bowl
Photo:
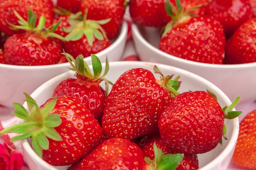
[[[66,41],[76,41],[85,35],[88,44],[92,46],[94,38],[97,40],[104,40],[104,38],[107,38],[106,32],[101,25],[108,23],[111,19],[88,20],[87,13],[88,9],[85,10],[82,21],[73,19],[72,22],[70,22],[71,26],[63,28],[63,31],[69,33],[65,37]]]

